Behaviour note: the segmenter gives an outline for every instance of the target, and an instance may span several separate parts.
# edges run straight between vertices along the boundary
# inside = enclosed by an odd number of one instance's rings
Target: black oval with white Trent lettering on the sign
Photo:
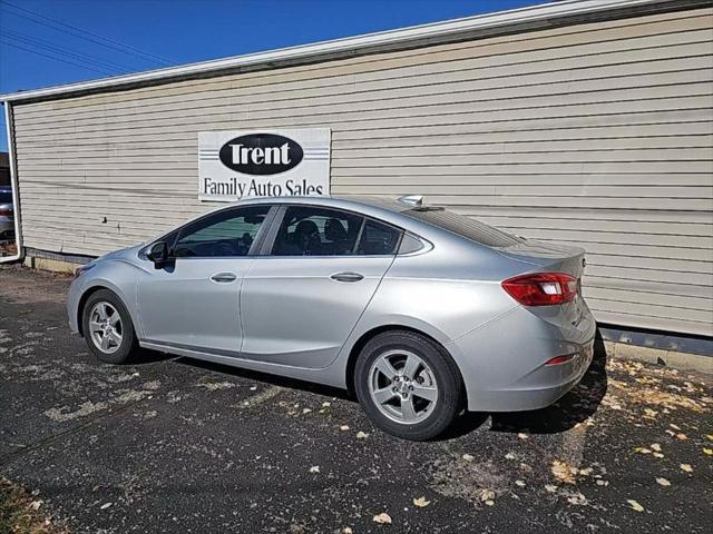
[[[300,145],[276,134],[236,137],[219,152],[223,165],[245,175],[277,175],[296,167],[303,157]]]

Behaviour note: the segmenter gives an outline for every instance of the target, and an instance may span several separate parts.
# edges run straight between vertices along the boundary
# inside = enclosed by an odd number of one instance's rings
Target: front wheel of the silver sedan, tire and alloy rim
[[[87,346],[101,362],[126,364],[137,353],[131,316],[115,293],[108,289],[92,293],[85,303],[81,320]]]

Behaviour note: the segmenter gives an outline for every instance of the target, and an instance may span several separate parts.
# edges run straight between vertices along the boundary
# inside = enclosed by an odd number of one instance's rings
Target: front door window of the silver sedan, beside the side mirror
[[[225,209],[184,226],[173,248],[173,256],[247,256],[271,206]]]

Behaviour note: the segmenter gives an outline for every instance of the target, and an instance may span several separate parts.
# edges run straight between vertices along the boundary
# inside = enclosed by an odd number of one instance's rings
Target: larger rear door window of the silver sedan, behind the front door
[[[291,206],[280,225],[272,256],[351,256],[364,218],[336,209]]]

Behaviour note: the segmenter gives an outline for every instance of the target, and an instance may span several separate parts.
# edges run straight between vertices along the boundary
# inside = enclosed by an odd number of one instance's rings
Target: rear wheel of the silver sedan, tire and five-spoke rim
[[[460,372],[446,349],[408,330],[379,334],[364,345],[354,368],[354,390],[375,426],[411,441],[442,434],[465,398]],[[426,394],[429,398],[420,396]]]

